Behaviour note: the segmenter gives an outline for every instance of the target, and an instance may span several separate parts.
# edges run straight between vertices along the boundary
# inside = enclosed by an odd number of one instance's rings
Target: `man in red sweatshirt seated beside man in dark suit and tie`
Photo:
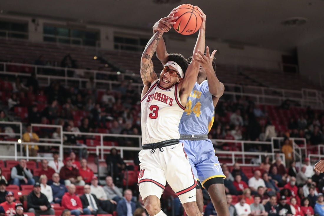
[[[88,208],[83,208],[82,202],[75,195],[75,185],[69,185],[68,192],[64,194],[61,202],[62,207],[71,211],[72,215],[79,216],[80,214],[91,214]]]

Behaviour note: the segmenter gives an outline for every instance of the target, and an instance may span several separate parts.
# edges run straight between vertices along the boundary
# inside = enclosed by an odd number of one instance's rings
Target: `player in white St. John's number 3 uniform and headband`
[[[189,216],[202,215],[196,203],[196,181],[182,143],[179,143],[179,122],[184,105],[197,80],[200,64],[195,59],[204,49],[205,15],[199,30],[193,58],[188,66],[181,54],[170,54],[160,78],[153,70],[151,60],[156,46],[177,17],[173,10],[168,17],[168,29],[158,30],[147,43],[141,58],[141,77],[144,88],[141,96],[142,148],[139,153],[138,185],[150,216],[164,216],[160,198],[166,181],[178,195]],[[184,78],[184,74],[186,77]]]

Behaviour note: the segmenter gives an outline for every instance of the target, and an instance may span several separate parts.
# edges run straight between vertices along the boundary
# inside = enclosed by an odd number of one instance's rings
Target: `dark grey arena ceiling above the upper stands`
[[[206,36],[223,42],[291,51],[324,37],[324,0],[3,0],[0,12],[149,32],[159,18],[186,3],[200,6],[207,15]],[[289,18],[307,22],[283,25]],[[303,20],[289,23],[299,22]]]

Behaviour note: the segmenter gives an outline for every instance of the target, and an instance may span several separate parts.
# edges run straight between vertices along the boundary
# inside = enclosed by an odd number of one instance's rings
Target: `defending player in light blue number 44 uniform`
[[[167,21],[157,22],[153,31],[166,29]],[[215,52],[210,55],[207,46],[206,55],[199,52],[198,56],[194,56],[201,63],[201,67],[181,117],[179,132],[180,142],[184,144],[193,174],[207,189],[217,214],[227,216],[229,212],[224,186],[225,175],[215,156],[213,144],[207,137],[214,122],[215,106],[224,93],[224,85],[215,74],[216,67],[213,62]],[[162,64],[168,62],[168,53],[163,40],[159,41],[156,55]],[[199,210],[203,211],[203,194],[199,186],[196,188],[196,199]]]

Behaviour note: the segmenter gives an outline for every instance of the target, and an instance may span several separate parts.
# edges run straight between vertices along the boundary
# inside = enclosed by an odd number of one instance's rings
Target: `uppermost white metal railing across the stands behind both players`
[[[105,89],[112,90],[113,85],[120,84],[119,81],[110,81],[110,80],[102,80],[97,79],[98,74],[104,75],[113,75],[117,78],[119,77],[121,80],[125,78],[129,79],[137,79],[139,83],[132,82],[130,85],[136,87],[137,92],[141,92],[143,88],[143,84],[141,83],[141,77],[139,74],[127,74],[120,72],[108,72],[108,71],[98,71],[98,70],[82,70],[82,69],[74,69],[74,68],[63,68],[63,67],[53,67],[53,66],[38,66],[38,65],[29,65],[29,64],[18,64],[18,63],[6,63],[0,62],[0,65],[3,65],[4,71],[0,72],[0,74],[5,75],[19,75],[19,76],[30,76],[27,73],[17,73],[17,72],[9,72],[7,71],[8,65],[16,65],[16,66],[28,66],[32,67],[36,73],[36,78],[44,79],[47,82],[44,85],[50,85],[52,80],[63,80],[65,86],[69,86],[69,82],[78,82],[79,88],[83,88],[83,84],[87,83],[89,79],[86,78],[78,78],[78,77],[69,77],[68,72],[73,71],[75,74],[82,72],[87,72],[92,74],[94,78],[95,85],[103,86]],[[64,76],[52,76],[52,75],[44,75],[42,74],[44,70],[52,69],[57,71],[64,71]],[[119,80],[120,80],[119,79]],[[310,90],[310,89],[302,89],[302,90],[287,90],[287,89],[277,89],[277,88],[267,88],[260,86],[242,86],[231,83],[224,83],[228,87],[232,87],[230,91],[224,92],[225,95],[233,96],[233,100],[236,100],[236,96],[249,96],[255,100],[257,103],[262,104],[270,104],[270,105],[280,105],[284,100],[290,99],[299,102],[302,106],[310,105],[316,108],[324,108],[324,99],[323,93],[318,90]],[[240,91],[236,92],[233,88],[237,87]],[[273,93],[276,92],[276,93]],[[278,96],[279,94],[279,96]],[[313,96],[311,96],[313,95]]]

